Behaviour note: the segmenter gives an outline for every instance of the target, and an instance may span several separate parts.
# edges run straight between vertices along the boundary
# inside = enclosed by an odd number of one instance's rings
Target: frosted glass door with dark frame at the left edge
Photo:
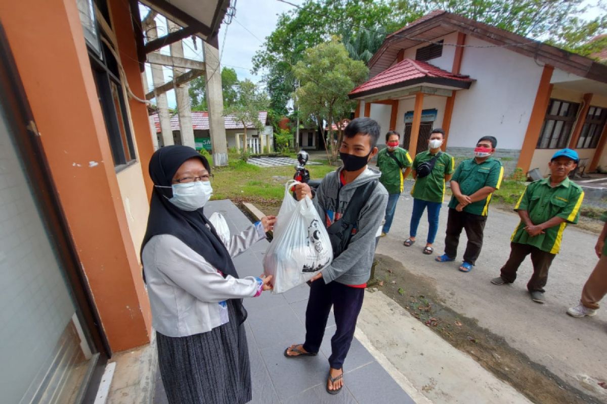
[[[3,403],[81,402],[100,359],[98,348],[103,349],[46,167],[0,26]]]

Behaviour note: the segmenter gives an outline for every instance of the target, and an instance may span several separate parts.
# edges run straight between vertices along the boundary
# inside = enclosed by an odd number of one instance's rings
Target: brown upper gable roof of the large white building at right
[[[435,10],[388,35],[368,63],[370,77],[390,67],[401,49],[432,42],[455,31],[493,45],[507,45],[506,49],[534,58],[537,62],[582,78],[607,83],[607,65],[444,10]]]

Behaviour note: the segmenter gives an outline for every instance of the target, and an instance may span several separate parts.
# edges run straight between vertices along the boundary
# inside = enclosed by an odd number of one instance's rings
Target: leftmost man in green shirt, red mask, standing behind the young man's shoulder
[[[385,223],[381,236],[384,237],[390,231],[396,203],[401,196],[405,179],[411,171],[411,157],[404,148],[398,147],[401,134],[396,131],[388,131],[385,134],[385,145],[378,153],[378,168],[381,171],[379,182],[388,191],[388,206],[385,208]]]

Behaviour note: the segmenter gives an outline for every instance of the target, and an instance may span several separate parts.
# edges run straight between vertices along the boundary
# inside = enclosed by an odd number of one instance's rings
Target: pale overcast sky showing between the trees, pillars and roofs
[[[302,4],[304,0],[289,0],[294,4]],[[585,4],[597,4],[599,0],[587,0]],[[141,6],[143,7],[143,6]],[[221,55],[222,66],[231,67],[236,70],[240,80],[248,78],[253,82],[259,82],[262,75],[252,75],[252,59],[256,51],[260,48],[266,36],[276,27],[280,13],[293,10],[293,6],[277,0],[237,0],[236,16],[229,25],[222,24],[219,30],[219,51]],[[142,10],[141,15],[146,13]],[[600,14],[598,8],[589,10],[588,17],[594,18]],[[158,35],[166,33],[166,23],[163,18],[157,17]],[[224,42],[225,41],[225,42]],[[197,43],[197,49],[191,39],[186,39],[184,43],[184,53],[186,58],[203,60],[202,47],[200,41]],[[161,53],[169,55],[169,47],[161,49]],[[152,77],[149,68],[146,68],[148,81],[151,84]],[[164,78],[169,81],[172,78],[172,71],[165,69]],[[151,85],[150,85],[151,87]],[[175,107],[174,91],[169,91],[169,107]]]

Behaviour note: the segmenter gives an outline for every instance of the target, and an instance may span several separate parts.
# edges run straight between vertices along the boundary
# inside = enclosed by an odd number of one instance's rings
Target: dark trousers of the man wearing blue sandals
[[[481,254],[481,248],[483,248],[483,231],[486,222],[487,216],[449,209],[447,236],[445,237],[445,254],[449,258],[457,256],[459,234],[464,229],[468,237],[466,251],[464,251],[464,262],[475,265],[476,259]]]

